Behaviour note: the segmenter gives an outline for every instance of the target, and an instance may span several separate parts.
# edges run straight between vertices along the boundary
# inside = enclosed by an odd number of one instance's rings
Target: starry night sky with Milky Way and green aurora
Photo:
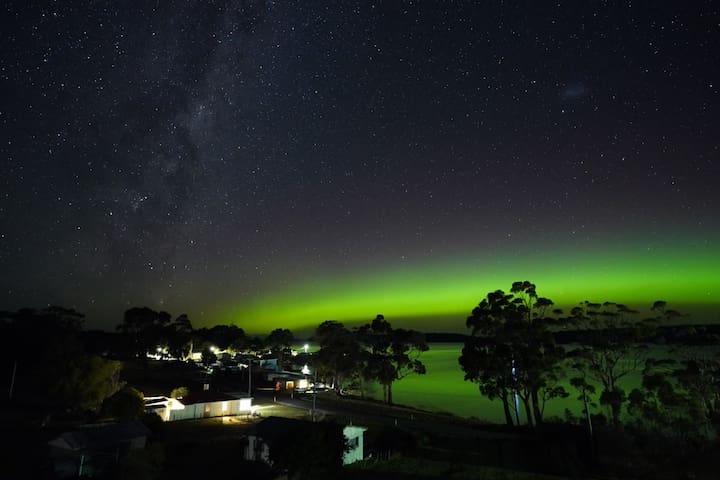
[[[720,321],[716,2],[322,3],[4,2],[0,309]]]

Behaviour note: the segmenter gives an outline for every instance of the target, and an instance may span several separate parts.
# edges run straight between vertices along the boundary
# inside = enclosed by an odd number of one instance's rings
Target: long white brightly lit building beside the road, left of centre
[[[182,398],[146,397],[145,410],[157,413],[166,422],[249,414],[252,412],[252,397],[238,398],[227,393],[202,390]]]

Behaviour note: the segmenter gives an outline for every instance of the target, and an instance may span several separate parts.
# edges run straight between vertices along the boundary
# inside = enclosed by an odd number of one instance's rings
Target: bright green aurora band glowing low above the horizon
[[[554,250],[487,258],[463,255],[434,263],[400,263],[364,271],[303,279],[252,303],[218,315],[247,331],[283,326],[312,329],[324,320],[369,321],[382,313],[395,325],[464,331],[472,308],[490,291],[530,280],[559,307],[583,300],[614,301],[644,310],[655,300],[671,308],[720,306],[720,251],[716,243],[648,249],[640,244]],[[459,258],[461,257],[461,258]],[[457,323],[449,319],[457,318]],[[415,320],[411,320],[415,319]]]

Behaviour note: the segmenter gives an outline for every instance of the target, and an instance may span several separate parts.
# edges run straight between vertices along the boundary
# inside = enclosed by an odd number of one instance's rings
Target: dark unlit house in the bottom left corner
[[[141,422],[83,425],[50,440],[50,457],[59,478],[95,476],[145,448],[150,430]]]

